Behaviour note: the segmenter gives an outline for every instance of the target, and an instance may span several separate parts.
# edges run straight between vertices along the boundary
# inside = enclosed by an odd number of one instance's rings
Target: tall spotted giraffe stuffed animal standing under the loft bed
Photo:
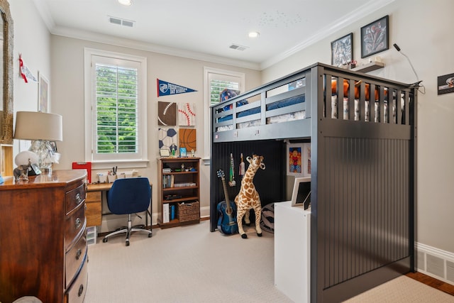
[[[255,211],[255,230],[257,231],[257,236],[262,236],[262,228],[260,228],[260,219],[262,216],[262,204],[260,202],[260,197],[253,183],[255,172],[259,168],[265,170],[265,163],[263,163],[263,157],[261,155],[253,155],[253,158],[246,158],[249,162],[248,170],[246,170],[243,180],[241,180],[241,188],[238,195],[235,197],[236,209],[237,209],[237,223],[238,223],[238,232],[241,235],[241,238],[248,238],[248,235],[243,230],[243,216],[245,216],[246,224],[250,224],[249,213],[250,209]]]

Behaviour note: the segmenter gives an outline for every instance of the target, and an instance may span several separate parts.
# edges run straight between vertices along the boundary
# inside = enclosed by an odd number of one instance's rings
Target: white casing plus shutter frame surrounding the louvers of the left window
[[[112,65],[128,61],[138,65],[138,153],[121,155],[117,153],[99,154],[96,157],[94,142],[96,110],[96,68],[95,62],[109,62]],[[122,53],[114,53],[106,50],[84,48],[84,118],[85,118],[85,161],[92,162],[94,169],[109,169],[113,166],[121,167],[146,167],[148,165],[148,142],[147,142],[147,58]],[[134,156],[135,155],[135,156]]]

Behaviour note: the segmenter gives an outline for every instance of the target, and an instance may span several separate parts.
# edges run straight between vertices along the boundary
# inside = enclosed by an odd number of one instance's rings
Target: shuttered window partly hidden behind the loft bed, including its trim
[[[204,67],[204,163],[209,164],[211,144],[211,109],[210,106],[219,103],[223,89],[234,89],[244,92],[245,75],[242,72],[217,70]]]

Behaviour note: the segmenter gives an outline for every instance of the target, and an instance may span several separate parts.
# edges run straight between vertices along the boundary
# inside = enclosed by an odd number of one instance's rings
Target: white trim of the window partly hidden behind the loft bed
[[[245,74],[243,72],[232,72],[231,70],[220,70],[212,67],[204,67],[204,157],[202,158],[204,165],[210,165],[211,158],[211,109],[210,109],[210,93],[209,93],[209,74],[219,74],[223,76],[239,77],[240,92],[245,89]]]

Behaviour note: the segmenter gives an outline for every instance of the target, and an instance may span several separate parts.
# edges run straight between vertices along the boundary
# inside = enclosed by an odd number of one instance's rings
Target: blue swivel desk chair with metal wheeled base
[[[107,193],[107,205],[112,214],[128,214],[128,227],[114,231],[104,236],[107,242],[109,237],[126,233],[126,246],[129,246],[129,236],[133,231],[143,231],[151,238],[152,232],[143,226],[132,226],[131,214],[148,211],[151,200],[151,187],[148,178],[126,178],[115,180]]]

